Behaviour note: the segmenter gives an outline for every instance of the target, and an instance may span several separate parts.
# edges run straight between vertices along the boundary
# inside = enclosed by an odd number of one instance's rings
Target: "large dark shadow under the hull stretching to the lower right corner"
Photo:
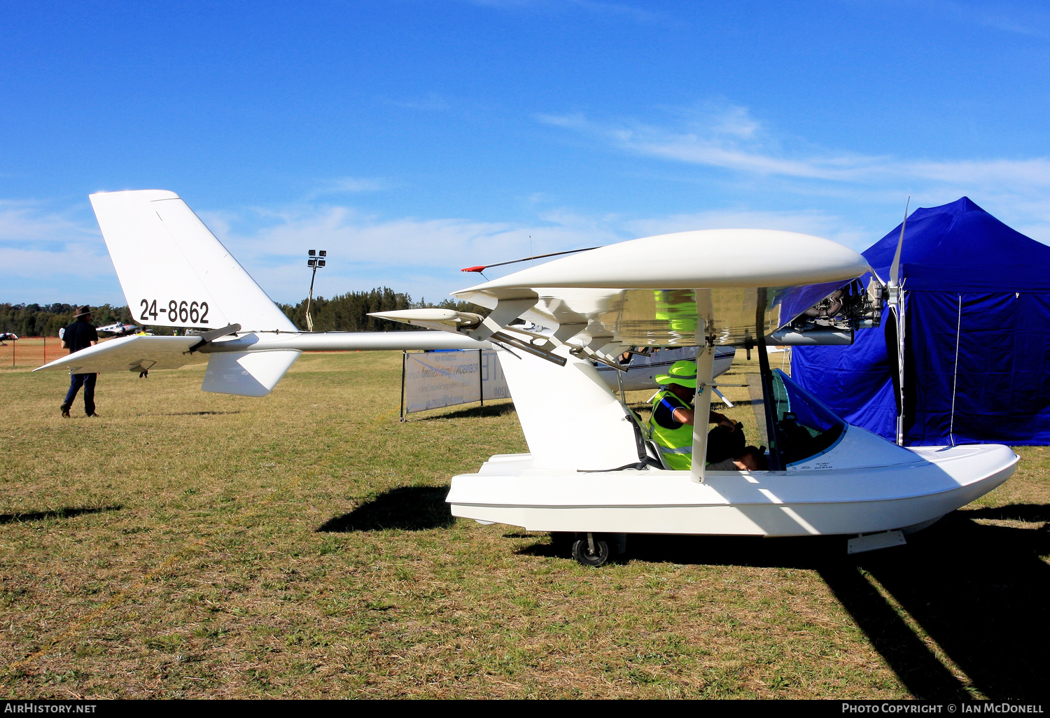
[[[748,538],[632,535],[629,559],[817,571],[901,682],[923,700],[968,700],[963,681],[876,588],[874,578],[992,700],[1044,697],[1050,675],[1050,506],[961,510],[905,547],[848,556],[842,536]],[[519,551],[555,555],[540,543]]]

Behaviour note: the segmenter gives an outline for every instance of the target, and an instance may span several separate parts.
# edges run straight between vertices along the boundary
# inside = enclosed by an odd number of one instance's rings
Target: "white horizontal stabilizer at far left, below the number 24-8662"
[[[178,368],[200,364],[208,357],[190,354],[200,337],[153,337],[135,335],[103,341],[94,346],[74,352],[69,356],[33,369],[66,369],[70,374],[98,374],[100,372],[144,372],[153,368]]]

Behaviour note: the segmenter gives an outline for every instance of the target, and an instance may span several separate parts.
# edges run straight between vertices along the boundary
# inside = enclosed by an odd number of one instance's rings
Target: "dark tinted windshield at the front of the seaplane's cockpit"
[[[846,423],[780,369],[773,369],[773,417],[784,464],[791,466],[834,446]]]

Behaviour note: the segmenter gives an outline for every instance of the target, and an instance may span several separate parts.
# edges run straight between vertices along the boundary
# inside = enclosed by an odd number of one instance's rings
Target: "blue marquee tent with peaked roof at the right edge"
[[[883,280],[900,231],[864,252]],[[1050,444],[1050,247],[962,197],[908,217],[901,266],[904,443]],[[796,381],[892,441],[891,367],[883,330],[792,353]]]

